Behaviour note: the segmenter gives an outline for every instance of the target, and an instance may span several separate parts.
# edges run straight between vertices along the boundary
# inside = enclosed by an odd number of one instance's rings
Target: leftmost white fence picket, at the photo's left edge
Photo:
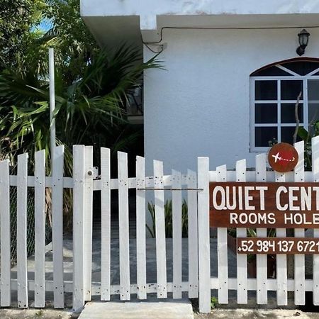
[[[10,221],[10,186],[9,159],[0,162],[0,290],[1,307],[11,306],[11,221]]]

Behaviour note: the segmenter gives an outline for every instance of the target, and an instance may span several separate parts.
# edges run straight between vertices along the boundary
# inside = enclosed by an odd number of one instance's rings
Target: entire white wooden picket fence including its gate
[[[294,291],[296,305],[305,303],[305,292],[313,291],[313,302],[319,304],[319,255],[313,256],[313,279],[305,278],[305,257],[295,255],[295,279],[287,276],[287,257],[276,256],[276,279],[267,279],[267,255],[257,255],[257,278],[247,278],[247,255],[237,255],[237,278],[228,277],[228,237],[226,228],[218,228],[217,273],[211,276],[211,247],[209,229],[210,181],[319,181],[319,138],[312,140],[313,172],[303,169],[303,142],[296,143],[299,163],[294,172],[277,174],[267,171],[267,156],[257,155],[256,170],[247,171],[245,159],[236,163],[235,171],[225,166],[209,170],[209,159],[198,157],[198,172],[181,174],[175,170],[164,175],[163,163],[154,161],[153,177],[145,176],[145,159],[136,158],[136,177],[128,177],[128,156],[118,152],[118,179],[111,179],[110,150],[101,148],[100,177],[96,179],[93,167],[93,147],[74,145],[73,177],[63,177],[64,147],[55,149],[52,177],[45,176],[45,152],[35,154],[35,176],[28,176],[28,155],[18,156],[18,173],[9,174],[9,161],[0,162],[0,306],[11,306],[11,291],[17,291],[18,307],[29,306],[29,291],[34,291],[34,306],[45,307],[45,292],[52,291],[55,308],[65,307],[65,293],[73,293],[73,308],[82,310],[92,296],[101,301],[119,295],[130,300],[149,293],[158,298],[199,298],[203,313],[211,309],[211,291],[218,291],[218,303],[228,303],[229,290],[237,291],[237,303],[247,303],[248,291],[256,291],[257,303],[267,304],[267,291],[276,291],[277,304],[288,303],[288,291]],[[17,279],[11,278],[10,256],[10,193],[17,186]],[[35,267],[30,276],[26,254],[26,196],[28,187],[35,192]],[[53,279],[45,278],[45,187],[52,189],[52,254]],[[73,189],[73,280],[64,278],[63,264],[63,190]],[[118,190],[120,284],[111,284],[111,190]],[[130,237],[128,216],[128,189],[136,190],[136,283],[130,280]],[[101,191],[101,281],[92,282],[92,210],[93,192]],[[156,218],[156,282],[147,282],[147,247],[145,216],[147,191],[155,196]],[[165,195],[164,195],[165,194]],[[172,282],[167,282],[167,251],[164,224],[165,196],[172,198],[173,267]],[[181,203],[188,204],[188,279],[182,280]],[[276,236],[284,237],[285,229],[277,229]],[[257,229],[258,237],[267,236],[266,229]],[[304,237],[305,230],[295,230],[296,237]],[[237,237],[246,237],[246,229],[238,228]],[[319,237],[319,230],[314,230]],[[29,270],[29,273],[28,273]],[[170,296],[170,295],[169,295]]]

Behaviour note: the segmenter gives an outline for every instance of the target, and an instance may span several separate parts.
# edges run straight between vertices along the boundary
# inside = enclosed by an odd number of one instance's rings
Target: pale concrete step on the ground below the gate
[[[86,303],[79,319],[194,319],[189,299]]]

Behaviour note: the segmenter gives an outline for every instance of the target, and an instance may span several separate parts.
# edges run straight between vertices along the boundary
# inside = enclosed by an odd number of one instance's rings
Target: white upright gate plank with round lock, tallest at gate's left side
[[[84,293],[91,300],[93,228],[93,146],[85,147]]]

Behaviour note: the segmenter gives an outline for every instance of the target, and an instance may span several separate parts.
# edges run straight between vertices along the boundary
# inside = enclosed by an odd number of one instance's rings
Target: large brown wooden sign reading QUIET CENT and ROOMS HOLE
[[[210,183],[211,227],[319,228],[318,183]]]

